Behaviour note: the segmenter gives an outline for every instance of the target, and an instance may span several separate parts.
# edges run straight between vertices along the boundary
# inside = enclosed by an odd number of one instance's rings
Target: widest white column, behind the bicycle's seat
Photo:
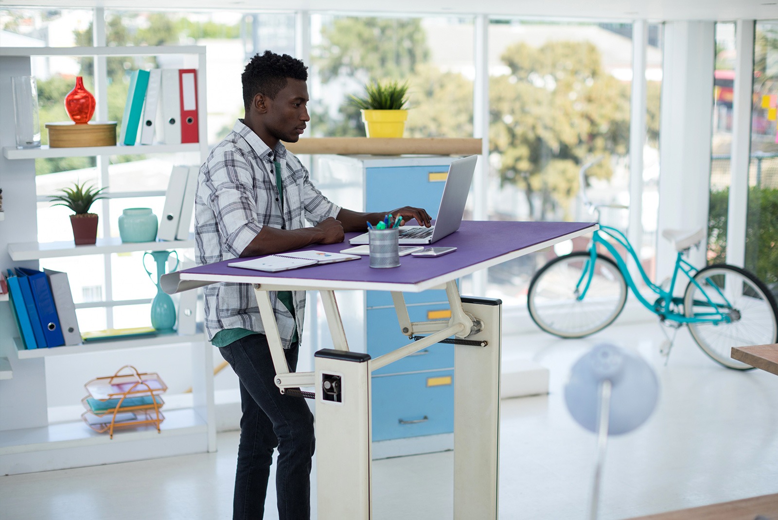
[[[713,110],[713,22],[668,22],[660,128],[657,281],[672,274],[676,252],[664,229],[707,229]],[[705,264],[705,243],[689,261]]]

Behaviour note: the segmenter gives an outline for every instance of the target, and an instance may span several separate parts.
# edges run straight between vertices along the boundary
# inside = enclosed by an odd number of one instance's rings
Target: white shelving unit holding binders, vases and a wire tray
[[[137,145],[88,148],[19,150],[14,146],[12,96],[0,96],[0,187],[4,212],[0,232],[0,268],[38,268],[37,260],[80,255],[104,255],[105,277],[110,278],[110,253],[171,250],[194,247],[194,241],[121,243],[117,237],[99,239],[94,246],[75,246],[72,241],[38,243],[35,159],[96,156],[100,185],[107,185],[110,155],[149,155],[198,152],[208,155],[206,122],[205,47],[104,47],[103,10],[96,9],[95,35],[98,47],[0,47],[0,92],[10,92],[10,78],[30,75],[34,56],[91,56],[95,65],[96,118],[107,120],[108,56],[195,55],[198,59],[198,143],[185,145]],[[45,121],[41,122],[41,126]],[[142,194],[138,194],[142,196]],[[102,201],[103,235],[110,230],[108,201]],[[30,239],[33,241],[31,242]],[[7,299],[7,298],[6,298]],[[109,302],[110,303],[110,302]],[[110,326],[110,325],[109,325]],[[216,451],[216,421],[213,403],[212,347],[202,329],[193,335],[162,334],[135,340],[89,342],[69,347],[27,351],[21,347],[9,305],[0,304],[0,474],[30,473],[50,469],[91,466],[196,452]],[[45,358],[68,354],[121,351],[138,347],[190,344],[192,356],[192,403],[190,408],[162,410],[162,432],[156,428],[117,431],[114,439],[97,434],[80,421],[48,424]],[[117,367],[118,368],[118,367]],[[98,375],[98,374],[96,374]],[[102,375],[102,374],[100,374]],[[88,449],[86,449],[88,448]]]

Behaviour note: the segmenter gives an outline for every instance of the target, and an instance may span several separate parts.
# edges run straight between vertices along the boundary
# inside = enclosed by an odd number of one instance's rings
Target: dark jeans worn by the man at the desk
[[[240,445],[235,475],[233,520],[261,520],[273,448],[279,448],[275,494],[280,520],[310,518],[310,464],[314,416],[303,397],[282,395],[264,334],[219,348],[240,379]],[[297,344],[284,351],[289,370],[297,366]]]

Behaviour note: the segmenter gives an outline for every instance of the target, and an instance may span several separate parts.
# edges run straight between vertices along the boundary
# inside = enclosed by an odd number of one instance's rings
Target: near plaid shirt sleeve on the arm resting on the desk
[[[240,257],[261,231],[254,174],[246,159],[228,150],[208,163],[203,187],[205,204],[211,208],[219,228],[224,257]]]

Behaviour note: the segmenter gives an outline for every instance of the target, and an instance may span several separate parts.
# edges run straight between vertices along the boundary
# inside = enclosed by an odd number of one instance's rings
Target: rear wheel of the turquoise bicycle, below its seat
[[[727,368],[753,368],[730,357],[732,347],[776,343],[778,311],[765,284],[740,267],[713,265],[694,275],[684,294],[687,317],[713,318],[714,312],[729,316],[730,322],[689,323],[689,332],[703,352]],[[710,302],[708,301],[710,298]]]

